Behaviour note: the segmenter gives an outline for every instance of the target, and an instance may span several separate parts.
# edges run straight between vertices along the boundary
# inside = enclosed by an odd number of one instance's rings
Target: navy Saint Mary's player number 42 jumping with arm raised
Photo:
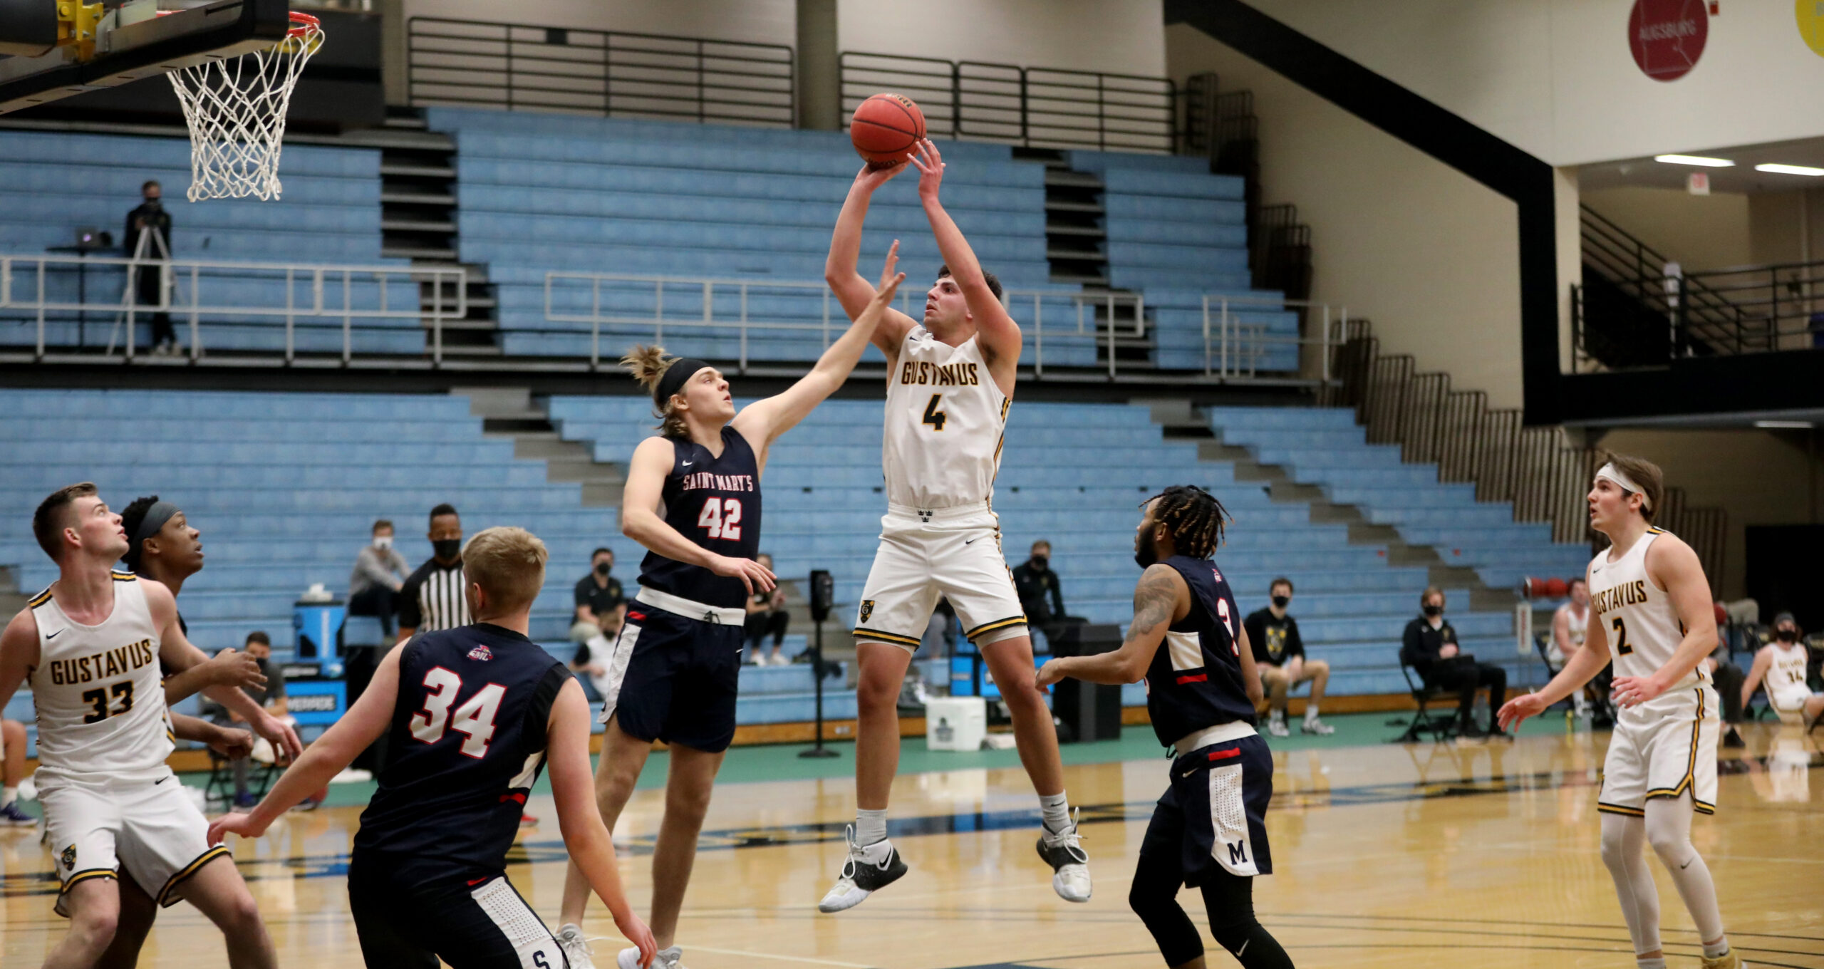
[[[653,741],[666,741],[664,834],[653,850],[655,965],[671,969],[684,889],[697,858],[697,832],[722,755],[735,739],[735,690],[741,677],[744,602],[772,591],[773,573],[761,547],[761,474],[772,443],[848,380],[905,274],[886,254],[879,294],[803,380],[782,394],[735,412],[722,372],[702,359],[671,358],[660,347],[635,347],[622,363],[651,391],[662,420],[658,436],[633,451],[622,493],[620,531],[646,546],[640,591],[607,657],[602,690],[602,761],[596,792],[609,827],[640,779]],[[679,810],[686,805],[686,810]],[[587,891],[571,865],[564,883],[558,940],[571,969],[589,969],[580,923]],[[635,951],[618,965],[631,969]]]

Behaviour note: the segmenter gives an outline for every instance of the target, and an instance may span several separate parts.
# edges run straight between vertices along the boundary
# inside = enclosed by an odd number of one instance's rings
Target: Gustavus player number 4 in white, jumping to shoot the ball
[[[1018,378],[1020,327],[1001,307],[1000,281],[981,270],[938,201],[938,146],[919,142],[912,164],[945,265],[925,294],[923,323],[886,310],[874,328],[874,345],[886,354],[886,516],[854,630],[861,666],[855,827],[843,874],[817,909],[859,905],[907,870],[886,839],[886,799],[899,768],[897,699],[939,595],[956,610],[1012,714],[1020,763],[1040,796],[1045,830],[1038,852],[1052,869],[1052,889],[1067,901],[1089,901],[1089,856],[1071,819],[1058,734],[1034,681],[1032,639],[990,507]],[[863,168],[835,221],[824,279],[850,319],[876,292],[855,272],[868,201],[901,168]]]

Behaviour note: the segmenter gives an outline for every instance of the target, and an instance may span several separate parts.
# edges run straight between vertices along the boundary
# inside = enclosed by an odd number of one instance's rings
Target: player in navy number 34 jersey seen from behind
[[[545,546],[491,527],[461,551],[472,626],[412,637],[387,653],[348,714],[248,814],[210,836],[257,838],[381,734],[390,757],[348,860],[348,909],[372,969],[564,969],[564,949],[507,880],[520,808],[551,765],[571,860],[635,942],[651,933],[627,907],[615,847],[589,785],[589,703],[562,661],[527,639]]]

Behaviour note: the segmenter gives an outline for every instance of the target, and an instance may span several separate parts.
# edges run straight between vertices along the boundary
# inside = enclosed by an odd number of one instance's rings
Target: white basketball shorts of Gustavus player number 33
[[[184,896],[184,880],[228,849],[208,843],[208,819],[170,770],[164,777],[71,777],[38,770],[38,801],[64,894],[89,878],[119,878],[124,865],[159,905]]]

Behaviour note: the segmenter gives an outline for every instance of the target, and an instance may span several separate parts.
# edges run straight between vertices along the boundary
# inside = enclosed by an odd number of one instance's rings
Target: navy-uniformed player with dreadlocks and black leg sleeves
[[[1166,965],[1204,969],[1204,943],[1178,907],[1178,889],[1191,885],[1204,892],[1209,929],[1237,962],[1290,969],[1291,958],[1253,914],[1253,876],[1273,870],[1266,843],[1273,757],[1255,734],[1260,677],[1248,631],[1211,560],[1228,511],[1197,485],[1167,487],[1140,507],[1135,560],[1145,573],[1127,641],[1113,653],[1052,659],[1038,682],[1145,679],[1153,732],[1173,748],[1173,765],[1127,905]]]

